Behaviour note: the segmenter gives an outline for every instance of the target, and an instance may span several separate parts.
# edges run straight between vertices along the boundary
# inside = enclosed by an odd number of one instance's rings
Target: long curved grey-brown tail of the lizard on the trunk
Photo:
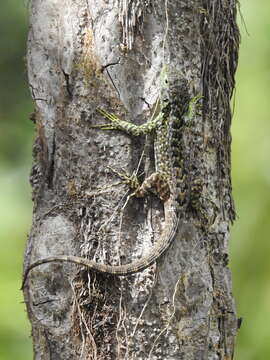
[[[168,200],[167,203],[169,203]],[[142,271],[152,265],[170,246],[175,233],[178,228],[179,216],[176,211],[176,207],[174,204],[167,205],[165,204],[165,228],[160,236],[158,242],[153,246],[153,248],[149,251],[148,254],[143,256],[139,260],[135,260],[129,264],[125,265],[104,265],[98,264],[93,260],[85,259],[79,256],[51,256],[45,259],[40,259],[35,261],[32,265],[30,265],[23,276],[23,282],[21,289],[24,288],[25,282],[27,280],[29,272],[34,269],[36,266],[46,264],[49,262],[71,262],[74,264],[85,266],[86,268],[97,271],[100,273],[111,274],[115,276],[125,276],[137,273]]]

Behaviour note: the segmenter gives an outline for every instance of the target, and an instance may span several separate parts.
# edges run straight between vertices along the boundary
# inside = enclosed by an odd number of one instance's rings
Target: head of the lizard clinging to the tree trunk
[[[188,81],[176,69],[164,65],[160,73],[160,104],[162,109],[179,108],[186,112],[190,101]]]

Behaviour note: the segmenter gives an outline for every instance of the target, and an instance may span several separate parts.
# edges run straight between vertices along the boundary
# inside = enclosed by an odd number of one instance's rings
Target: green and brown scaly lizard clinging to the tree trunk
[[[183,213],[185,200],[184,175],[182,171],[181,141],[184,117],[190,112],[192,99],[188,81],[176,70],[164,66],[160,74],[159,111],[142,125],[119,119],[116,115],[97,109],[110,123],[97,125],[103,130],[120,130],[132,136],[154,133],[155,172],[146,178],[132,195],[143,197],[156,187],[164,202],[165,225],[159,240],[140,259],[124,265],[99,264],[93,260],[72,255],[56,255],[32,263],[23,275],[22,288],[29,272],[49,262],[71,262],[93,271],[125,276],[142,271],[152,265],[172,243]],[[196,102],[196,101],[195,101]]]

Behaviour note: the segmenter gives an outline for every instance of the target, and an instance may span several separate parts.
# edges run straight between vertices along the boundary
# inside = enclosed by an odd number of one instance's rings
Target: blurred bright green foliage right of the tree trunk
[[[238,218],[231,238],[231,268],[238,315],[243,317],[235,357],[257,360],[270,358],[270,3],[241,3],[249,35],[242,24],[232,126]]]

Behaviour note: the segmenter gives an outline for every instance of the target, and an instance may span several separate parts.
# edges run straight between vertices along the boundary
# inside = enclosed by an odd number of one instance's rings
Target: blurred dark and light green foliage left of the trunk
[[[20,289],[23,252],[31,225],[32,103],[27,87],[27,8],[1,3],[0,11],[0,359],[32,358],[30,325]]]

